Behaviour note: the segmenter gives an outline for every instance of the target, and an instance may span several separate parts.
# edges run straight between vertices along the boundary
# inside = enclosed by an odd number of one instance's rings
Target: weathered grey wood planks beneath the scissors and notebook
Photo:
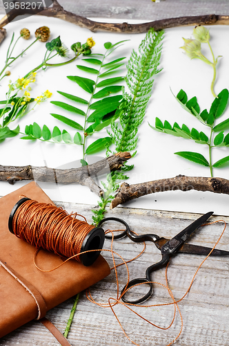
[[[85,215],[88,222],[91,222],[94,206],[77,205],[70,203],[58,203],[69,212],[77,211]],[[155,210],[140,210],[132,208],[116,208],[108,212],[108,216],[116,216],[125,219],[131,229],[137,233],[156,233],[163,237],[172,237],[179,230],[185,228],[192,220],[199,215],[186,214],[181,212],[161,212]],[[221,217],[212,217],[212,220]],[[224,217],[228,223],[229,217]],[[115,226],[115,225],[114,225]],[[192,237],[192,244],[213,246],[217,241],[223,224],[203,226],[196,235]],[[223,235],[217,248],[228,249],[228,230]],[[110,248],[110,241],[106,240],[104,248]],[[120,239],[115,242],[114,250],[122,255],[125,260],[129,260],[141,251],[142,244],[131,243],[128,239]],[[103,253],[110,266],[112,260],[108,253]],[[170,288],[175,298],[180,299],[190,284],[192,276],[203,260],[203,256],[179,254],[171,260],[168,278]],[[135,262],[130,263],[130,278],[144,276],[146,267],[160,259],[159,251],[148,243],[146,252]],[[119,262],[119,260],[117,260]],[[190,293],[179,303],[183,316],[183,332],[176,345],[208,345],[208,346],[228,346],[229,340],[229,285],[228,285],[229,262],[227,257],[210,257],[203,264]],[[118,268],[119,284],[122,288],[126,283],[126,269]],[[161,269],[153,274],[152,280],[166,283],[165,270]],[[105,280],[95,284],[91,289],[92,295],[98,302],[107,302],[109,297],[116,297],[117,287],[115,273],[111,273]],[[161,304],[170,302],[166,289],[155,285],[155,294],[150,300],[151,304]],[[64,331],[66,321],[70,314],[73,299],[70,299],[59,307],[48,312],[48,318],[61,330]],[[148,302],[149,303],[149,302]],[[150,319],[162,327],[170,324],[173,316],[172,307],[148,307],[138,308],[137,311],[145,318]],[[139,345],[166,346],[170,340],[179,333],[180,319],[177,315],[175,325],[168,331],[162,331],[152,327],[140,320],[125,307],[115,307],[115,312],[119,316],[123,327],[126,329],[132,340]],[[119,327],[115,316],[110,308],[101,308],[89,302],[86,293],[81,293],[81,298],[77,306],[77,313],[68,337],[72,346],[96,346],[96,345],[130,345]],[[50,332],[39,322],[30,322],[27,325],[13,331],[1,339],[1,345],[58,345]]]

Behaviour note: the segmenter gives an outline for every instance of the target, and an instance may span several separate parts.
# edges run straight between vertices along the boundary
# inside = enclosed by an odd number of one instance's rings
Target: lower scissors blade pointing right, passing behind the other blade
[[[161,247],[169,241],[170,241],[170,239],[160,238],[160,239],[156,240],[155,245],[157,246],[157,248],[159,248],[159,250],[161,250]],[[212,250],[212,248],[208,248],[206,246],[184,243],[178,252],[179,253],[189,253],[190,255],[205,255],[205,256],[207,256],[211,250]],[[229,256],[229,251],[219,250],[219,249],[215,248],[212,251],[212,253],[210,254],[210,256]]]

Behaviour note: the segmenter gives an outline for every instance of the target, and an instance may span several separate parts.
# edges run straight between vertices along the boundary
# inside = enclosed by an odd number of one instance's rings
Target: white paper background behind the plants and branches
[[[98,19],[97,19],[98,20]],[[102,19],[101,19],[102,21]],[[112,19],[115,22],[114,19]],[[125,20],[124,20],[125,21]],[[133,22],[133,21],[129,21]],[[103,53],[103,43],[110,41],[113,44],[122,39],[130,39],[130,41],[123,44],[117,49],[116,53],[110,56],[113,60],[117,57],[126,56],[130,57],[132,48],[137,50],[139,44],[145,34],[139,35],[123,35],[117,33],[91,33],[87,29],[79,28],[73,24],[61,21],[59,19],[33,16],[28,19],[22,19],[15,23],[8,24],[7,31],[8,37],[1,44],[0,66],[6,59],[6,51],[10,42],[10,37],[15,32],[17,37],[19,30],[26,27],[30,29],[31,33],[39,26],[49,26],[52,32],[52,38],[61,35],[62,42],[68,47],[74,42],[86,42],[88,37],[93,37],[96,46],[93,48],[94,53]],[[228,42],[228,26],[211,26],[211,44],[215,55],[222,55],[220,58],[219,66],[217,67],[217,82],[215,85],[216,93],[222,89],[228,88],[228,75],[229,75],[229,42]],[[184,111],[175,100],[173,93],[177,94],[180,89],[183,89],[188,94],[188,98],[197,96],[201,110],[210,109],[210,104],[213,101],[212,94],[210,93],[210,82],[212,80],[212,69],[210,66],[203,64],[200,60],[190,60],[185,54],[182,53],[180,46],[183,45],[182,37],[189,38],[192,35],[192,27],[186,28],[171,28],[166,30],[165,38],[163,40],[163,50],[161,56],[161,67],[163,71],[155,78],[153,86],[152,97],[150,99],[146,117],[143,124],[139,129],[139,143],[137,147],[137,156],[132,158],[129,163],[135,164],[134,170],[129,172],[130,179],[128,183],[140,183],[143,181],[151,181],[161,178],[170,178],[177,174],[185,174],[187,176],[210,176],[208,167],[197,165],[190,161],[186,161],[174,152],[177,151],[192,151],[200,152],[208,159],[208,147],[198,145],[192,140],[185,140],[167,134],[161,134],[152,130],[151,125],[155,125],[155,118],[159,117],[162,121],[168,120],[171,125],[175,121],[181,126],[183,123],[188,125],[191,129],[195,127],[198,131],[205,131],[208,134],[208,128],[204,127]],[[30,42],[32,42],[30,40]],[[22,47],[26,47],[28,42],[21,39],[21,44],[18,45],[18,53]],[[4,78],[0,88],[0,98],[5,98],[7,91],[8,80],[17,80],[23,77],[30,69],[40,64],[45,48],[44,44],[38,42],[33,48],[28,51],[25,59],[19,58],[16,63],[10,68],[12,75],[10,78]],[[203,49],[210,57],[207,46]],[[60,58],[57,59],[59,61]],[[211,59],[211,57],[210,57]],[[127,61],[127,60],[126,60]],[[93,75],[85,75],[76,64],[82,64],[81,58],[72,64],[66,66],[47,69],[37,73],[37,83],[32,85],[31,95],[35,97],[40,95],[43,91],[48,89],[52,92],[50,100],[59,100],[68,102],[76,107],[81,105],[75,104],[70,100],[66,100],[57,93],[57,90],[72,93],[79,97],[88,99],[88,93],[75,83],[66,78],[67,75],[82,75],[84,77],[93,78]],[[88,65],[90,66],[90,65]],[[126,69],[123,68],[122,75],[126,74]],[[59,107],[50,104],[49,100],[39,105],[35,111],[31,111],[28,116],[22,118],[19,122],[21,130],[23,131],[26,125],[32,122],[37,122],[41,127],[46,124],[50,129],[57,125],[61,130],[66,129],[71,133],[72,129],[67,125],[62,124],[58,120],[52,118],[50,113],[59,113],[63,116],[70,117],[70,113],[62,111]],[[228,111],[219,118],[221,122],[228,118]],[[83,117],[72,115],[72,119],[83,124]],[[10,128],[13,129],[17,123],[12,123]],[[74,134],[75,131],[72,131]],[[88,145],[100,136],[106,136],[106,130],[94,134],[88,138]],[[81,158],[81,147],[77,145],[58,145],[51,143],[42,143],[37,140],[30,142],[21,140],[19,136],[9,138],[0,144],[0,163],[1,165],[48,165],[48,167],[78,167]],[[212,149],[212,161],[216,162],[219,158],[229,155],[229,149],[220,148]],[[99,153],[96,157],[88,157],[89,163],[99,158],[105,157],[105,152]],[[214,170],[214,176],[221,176],[229,179],[228,167],[218,168]],[[0,194],[4,195],[17,188],[21,187],[28,182],[18,182],[14,185],[8,183],[0,183]],[[60,185],[54,183],[39,183],[41,188],[48,194],[54,201],[68,201],[75,203],[88,203],[97,205],[98,197],[90,192],[87,187],[78,184],[74,185]],[[146,208],[157,210],[177,210],[183,212],[208,212],[212,210],[218,215],[229,215],[228,208],[228,195],[213,194],[210,192],[163,192],[157,194],[150,194],[140,199],[135,199],[125,204],[132,208]]]

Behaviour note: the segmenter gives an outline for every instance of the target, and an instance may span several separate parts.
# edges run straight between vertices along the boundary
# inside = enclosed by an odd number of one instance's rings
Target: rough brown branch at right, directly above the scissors
[[[146,183],[132,184],[123,183],[117,190],[115,199],[110,204],[113,209],[119,204],[130,201],[131,199],[163,191],[210,191],[218,194],[229,194],[229,180],[223,178],[208,178],[203,176],[184,176],[178,175],[174,178],[159,179]]]

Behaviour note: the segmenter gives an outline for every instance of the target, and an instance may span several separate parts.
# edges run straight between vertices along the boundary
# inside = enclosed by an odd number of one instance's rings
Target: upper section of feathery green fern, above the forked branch
[[[128,61],[125,80],[129,93],[123,92],[119,126],[114,122],[111,125],[117,152],[133,150],[137,146],[137,131],[150,100],[152,78],[161,71],[158,66],[162,39],[163,31],[150,29],[139,46],[139,52],[132,51]]]

